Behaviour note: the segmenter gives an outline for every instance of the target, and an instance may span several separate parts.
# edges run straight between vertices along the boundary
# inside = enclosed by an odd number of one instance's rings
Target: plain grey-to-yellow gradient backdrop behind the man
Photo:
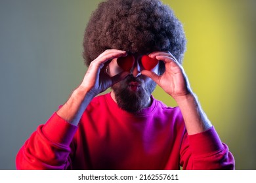
[[[98,2],[0,0],[0,169],[15,169],[22,144],[81,82],[83,31]],[[184,24],[184,69],[236,169],[256,169],[256,1],[163,2]],[[154,96],[176,105],[160,88]]]

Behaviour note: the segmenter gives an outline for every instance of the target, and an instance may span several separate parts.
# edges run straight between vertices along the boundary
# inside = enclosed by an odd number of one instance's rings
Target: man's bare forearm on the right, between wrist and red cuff
[[[194,93],[175,99],[181,108],[188,135],[202,133],[212,125]]]

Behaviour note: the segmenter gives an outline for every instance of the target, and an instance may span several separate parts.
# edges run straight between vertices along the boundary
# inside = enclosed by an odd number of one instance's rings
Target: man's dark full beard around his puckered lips
[[[134,83],[136,83],[134,85]],[[133,88],[133,89],[131,89]],[[127,112],[139,112],[148,107],[150,95],[156,88],[156,82],[152,79],[146,83],[139,77],[127,76],[124,80],[112,86],[117,105]]]

